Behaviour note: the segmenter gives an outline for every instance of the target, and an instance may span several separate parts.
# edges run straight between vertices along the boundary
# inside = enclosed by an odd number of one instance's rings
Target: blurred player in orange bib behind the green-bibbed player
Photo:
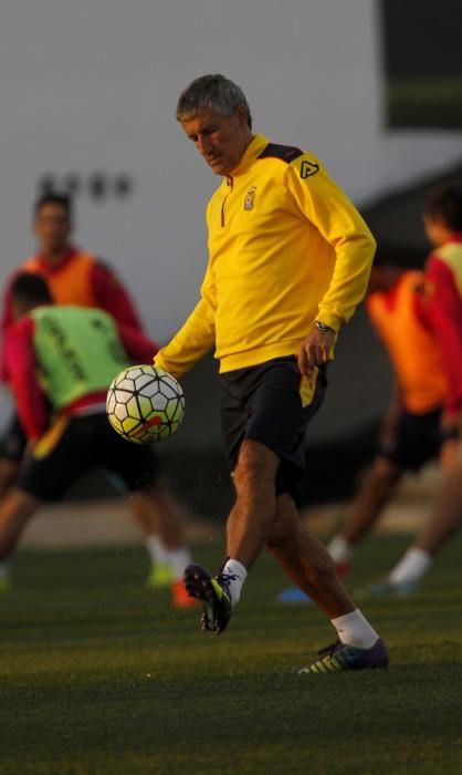
[[[108,312],[117,323],[129,326],[143,333],[140,317],[127,290],[106,264],[72,242],[74,214],[70,197],[59,193],[43,194],[33,208],[38,251],[18,272],[31,272],[42,277],[55,304],[99,308]],[[13,273],[7,285],[1,313],[3,335],[13,322],[11,283],[18,272]],[[1,373],[4,382],[3,360]],[[0,496],[7,493],[17,479],[25,442],[25,434],[18,415],[14,414],[0,438]],[[148,585],[153,588],[164,587],[171,581],[169,562],[165,559],[168,550],[156,534],[156,525],[150,525],[150,509],[144,510],[141,504],[136,512],[134,509],[134,515],[146,535],[146,548],[151,559]]]

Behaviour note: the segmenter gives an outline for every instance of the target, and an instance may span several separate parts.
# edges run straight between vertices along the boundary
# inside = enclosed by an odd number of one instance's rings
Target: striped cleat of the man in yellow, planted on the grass
[[[337,640],[317,652],[319,659],[297,670],[304,673],[336,673],[342,670],[366,670],[367,668],[388,668],[388,651],[381,638],[370,649],[358,649]]]

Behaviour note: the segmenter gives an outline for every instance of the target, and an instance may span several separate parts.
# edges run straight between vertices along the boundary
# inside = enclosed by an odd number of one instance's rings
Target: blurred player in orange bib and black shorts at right
[[[393,400],[381,423],[379,450],[340,530],[327,547],[340,575],[354,548],[377,523],[407,472],[437,457],[447,381],[440,349],[420,314],[423,271],[374,266],[366,301],[369,318],[387,349],[395,374]],[[297,588],[277,596],[283,603],[307,600]]]

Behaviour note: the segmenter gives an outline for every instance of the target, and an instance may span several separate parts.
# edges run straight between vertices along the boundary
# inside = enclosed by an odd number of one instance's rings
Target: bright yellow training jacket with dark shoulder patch
[[[296,354],[315,319],[338,331],[366,292],[374,237],[309,153],[255,135],[207,225],[201,299],[156,355],[176,376],[213,344],[220,372]]]

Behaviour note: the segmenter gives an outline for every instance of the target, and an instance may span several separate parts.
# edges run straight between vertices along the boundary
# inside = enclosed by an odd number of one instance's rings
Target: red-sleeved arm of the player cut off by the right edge
[[[462,298],[452,270],[437,256],[427,267],[422,303],[448,381],[447,414],[455,416],[462,411]]]

